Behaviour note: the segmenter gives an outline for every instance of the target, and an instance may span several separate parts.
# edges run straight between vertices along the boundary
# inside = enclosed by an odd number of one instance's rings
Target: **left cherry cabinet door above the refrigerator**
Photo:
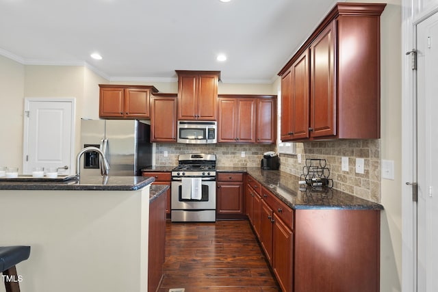
[[[99,116],[123,118],[125,101],[123,88],[101,88],[99,101]]]

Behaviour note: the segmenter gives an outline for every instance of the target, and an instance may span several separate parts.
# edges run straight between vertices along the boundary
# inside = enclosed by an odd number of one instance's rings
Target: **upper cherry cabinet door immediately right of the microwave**
[[[235,143],[235,129],[237,127],[237,101],[235,98],[218,99],[218,142]]]

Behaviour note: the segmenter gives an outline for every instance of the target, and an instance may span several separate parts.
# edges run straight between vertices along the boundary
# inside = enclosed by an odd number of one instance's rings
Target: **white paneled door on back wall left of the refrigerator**
[[[34,167],[73,174],[75,99],[25,98],[23,174]]]

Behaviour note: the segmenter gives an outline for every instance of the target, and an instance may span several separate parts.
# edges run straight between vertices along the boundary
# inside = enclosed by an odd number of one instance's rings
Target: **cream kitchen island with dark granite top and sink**
[[[0,181],[0,245],[30,245],[23,291],[147,291],[152,177]],[[164,210],[163,210],[164,212]]]

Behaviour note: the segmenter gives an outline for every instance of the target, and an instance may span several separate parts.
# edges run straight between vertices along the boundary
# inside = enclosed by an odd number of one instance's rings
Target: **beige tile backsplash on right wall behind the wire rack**
[[[296,153],[280,155],[280,170],[299,176],[305,159],[326,159],[333,187],[373,202],[381,199],[380,140],[337,140],[296,144]],[[348,157],[348,172],[342,171],[342,157]],[[364,159],[364,173],[356,173],[356,159]]]

